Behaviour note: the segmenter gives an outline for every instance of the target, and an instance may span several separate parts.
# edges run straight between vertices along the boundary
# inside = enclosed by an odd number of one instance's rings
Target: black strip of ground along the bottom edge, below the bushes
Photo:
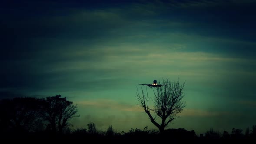
[[[3,134],[4,135],[4,134]],[[25,143],[25,144],[226,144],[240,143],[252,144],[255,137],[198,137],[175,134],[126,134],[126,135],[99,135],[99,134],[20,134],[20,135],[1,135],[0,143]],[[3,143],[4,142],[4,143]]]

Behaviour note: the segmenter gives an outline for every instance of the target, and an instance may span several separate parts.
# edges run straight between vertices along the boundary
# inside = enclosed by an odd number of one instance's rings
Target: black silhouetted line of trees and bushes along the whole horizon
[[[197,135],[194,130],[187,131],[184,128],[167,129],[163,134],[158,130],[149,130],[145,127],[132,129],[128,132],[115,132],[110,125],[106,131],[96,128],[91,122],[87,128],[70,129],[69,120],[79,117],[77,105],[72,101],[56,95],[46,98],[13,98],[0,100],[0,138],[61,138],[62,140],[88,138],[94,140],[132,141],[143,140],[153,142],[165,139],[175,140],[236,140],[256,138],[256,125],[251,128],[233,128],[229,134],[227,131],[215,131],[210,129],[204,134]]]

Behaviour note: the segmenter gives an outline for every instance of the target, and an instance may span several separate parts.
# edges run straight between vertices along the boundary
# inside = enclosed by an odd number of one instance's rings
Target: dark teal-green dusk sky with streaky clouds
[[[256,124],[255,0],[0,3],[0,98],[67,97],[72,128],[156,129],[138,84],[179,79],[186,107],[167,128]]]

